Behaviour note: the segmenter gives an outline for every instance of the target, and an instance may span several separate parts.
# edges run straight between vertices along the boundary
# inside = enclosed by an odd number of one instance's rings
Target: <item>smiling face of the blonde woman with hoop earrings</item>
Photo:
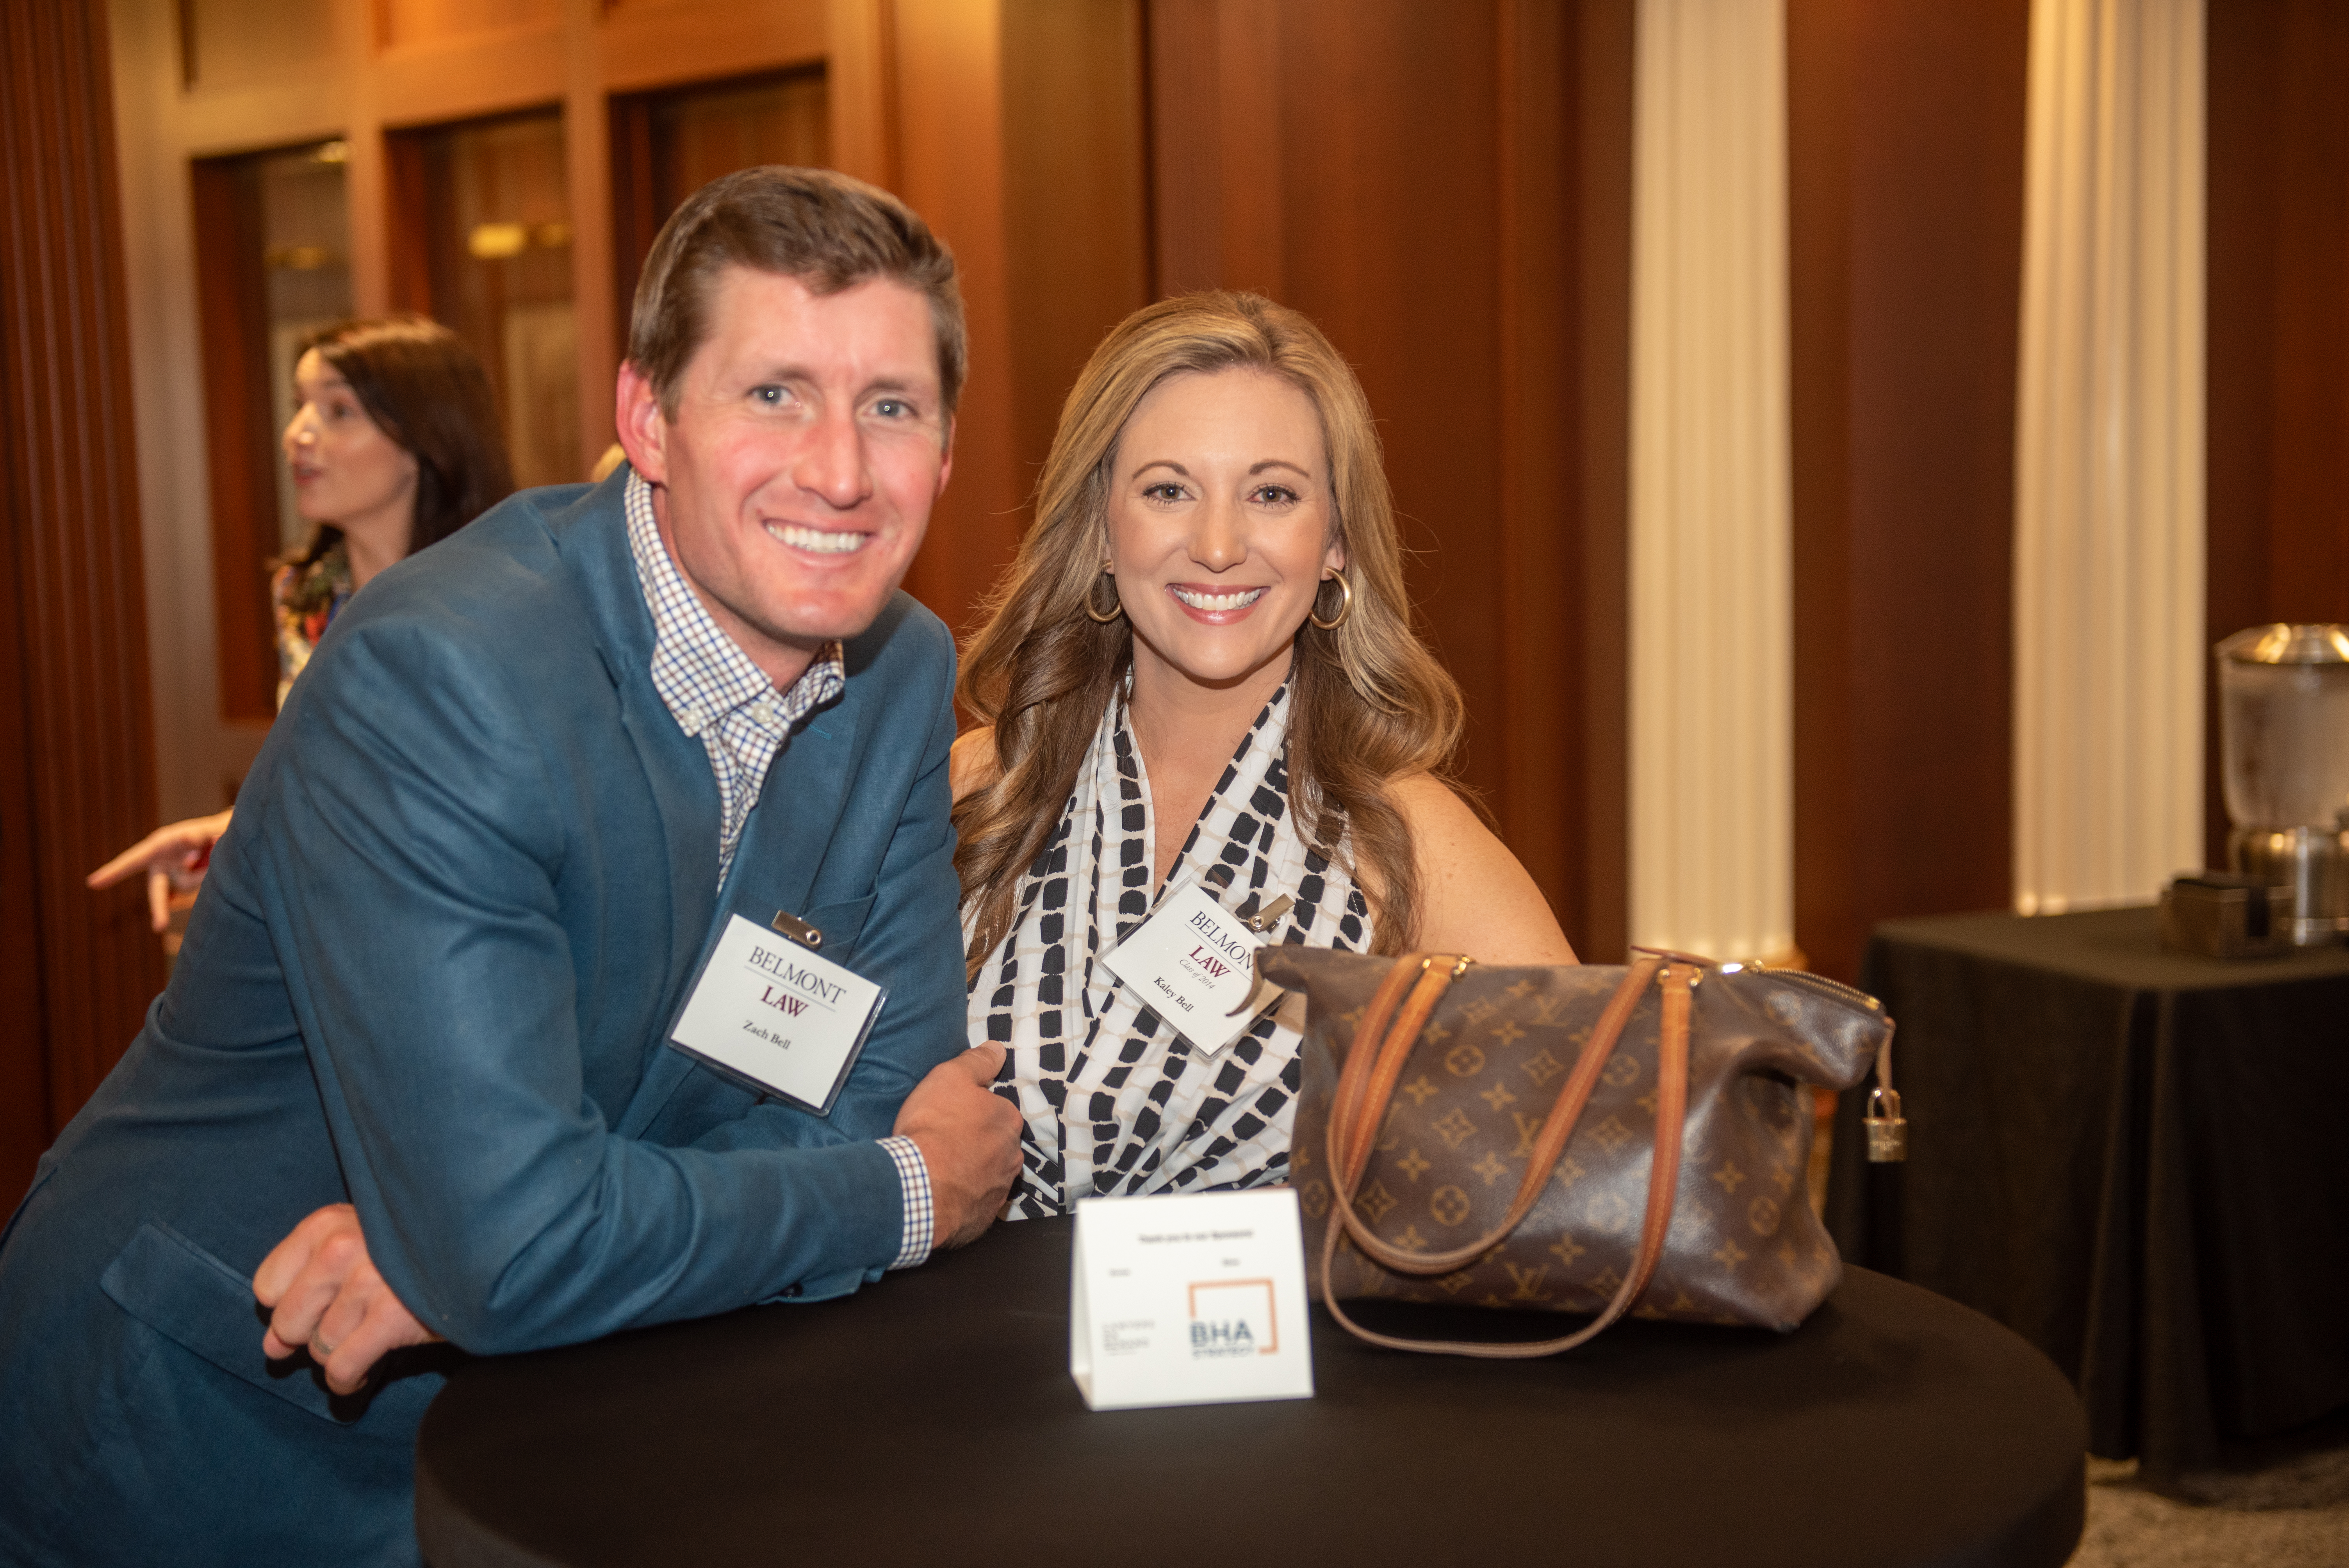
[[[1346,566],[1311,399],[1266,371],[1170,376],[1111,458],[1109,566],[1135,681],[1245,685],[1287,669],[1322,573]]]

